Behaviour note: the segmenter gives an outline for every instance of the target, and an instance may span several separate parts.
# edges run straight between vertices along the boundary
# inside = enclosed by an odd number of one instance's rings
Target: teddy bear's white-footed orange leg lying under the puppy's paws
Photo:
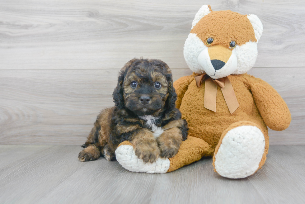
[[[212,155],[214,150],[208,143],[196,137],[188,136],[181,143],[178,153],[172,158],[158,158],[153,163],[144,163],[135,155],[132,144],[122,142],[115,150],[116,160],[127,170],[144,173],[166,173],[174,171],[192,162],[198,161],[203,156]]]

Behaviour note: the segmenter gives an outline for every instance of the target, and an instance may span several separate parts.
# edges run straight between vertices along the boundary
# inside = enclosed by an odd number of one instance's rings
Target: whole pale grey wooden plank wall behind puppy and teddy
[[[304,145],[303,0],[0,0],[0,144],[82,144],[133,57],[164,60],[174,79],[191,74],[183,45],[203,4],[260,18],[249,74],[270,83],[293,118],[270,131],[270,145]]]

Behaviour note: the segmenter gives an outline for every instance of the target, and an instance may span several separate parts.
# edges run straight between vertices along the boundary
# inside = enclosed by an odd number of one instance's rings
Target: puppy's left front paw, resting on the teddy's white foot
[[[160,149],[156,142],[138,144],[135,147],[135,154],[139,159],[142,159],[144,163],[153,163],[158,159],[160,155]]]

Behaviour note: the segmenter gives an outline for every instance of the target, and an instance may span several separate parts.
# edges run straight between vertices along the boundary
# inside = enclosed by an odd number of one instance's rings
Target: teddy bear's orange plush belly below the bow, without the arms
[[[234,82],[233,82],[234,83]],[[233,84],[232,83],[232,84]],[[218,144],[223,131],[237,121],[251,121],[263,130],[268,140],[267,127],[255,105],[250,91],[242,84],[235,83],[234,92],[239,103],[237,110],[231,115],[224,100],[221,89],[217,90],[216,112],[204,108],[204,84],[197,88],[190,84],[179,110],[189,127],[189,135],[206,141],[213,149]]]

